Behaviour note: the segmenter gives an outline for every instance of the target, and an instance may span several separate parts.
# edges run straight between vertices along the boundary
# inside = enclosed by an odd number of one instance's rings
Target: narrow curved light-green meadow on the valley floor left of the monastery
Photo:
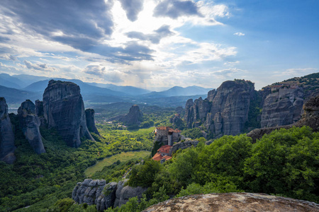
[[[84,175],[86,177],[91,177],[95,172],[99,172],[103,170],[103,167],[116,163],[117,160],[121,160],[121,162],[131,159],[138,160],[139,158],[145,158],[148,155],[150,155],[150,151],[131,151],[112,155],[111,157],[104,158],[103,160],[98,161],[95,165],[88,167],[84,171]]]

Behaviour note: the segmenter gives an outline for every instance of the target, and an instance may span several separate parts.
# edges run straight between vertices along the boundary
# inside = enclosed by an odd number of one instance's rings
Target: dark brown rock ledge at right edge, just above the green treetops
[[[285,126],[272,126],[261,129],[254,129],[250,131],[247,136],[251,137],[252,141],[255,142],[257,139],[261,139],[264,134],[270,134],[276,129],[289,129],[293,126],[310,126],[313,131],[319,131],[319,95],[310,98],[310,100],[308,100],[303,105],[303,115],[302,118],[298,120],[298,122]]]

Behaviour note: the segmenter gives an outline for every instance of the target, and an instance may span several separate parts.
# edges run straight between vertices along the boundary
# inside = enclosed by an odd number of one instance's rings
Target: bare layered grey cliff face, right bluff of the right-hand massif
[[[303,88],[278,88],[267,95],[262,106],[261,127],[293,124],[301,118]]]

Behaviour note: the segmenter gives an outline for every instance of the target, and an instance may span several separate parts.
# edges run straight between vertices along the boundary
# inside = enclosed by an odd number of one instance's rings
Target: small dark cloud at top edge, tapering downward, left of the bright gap
[[[126,17],[128,20],[135,21],[138,19],[138,13],[143,9],[144,0],[119,0],[121,2],[122,8],[126,12]]]

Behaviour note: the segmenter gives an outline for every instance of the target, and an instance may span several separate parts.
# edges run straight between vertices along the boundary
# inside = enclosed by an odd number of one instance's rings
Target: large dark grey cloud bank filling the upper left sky
[[[83,52],[105,56],[116,63],[135,60],[152,60],[148,47],[128,43],[126,47],[101,44],[113,33],[111,8],[113,1],[55,0],[17,1],[4,0],[0,13],[10,16],[23,28],[44,35],[48,40],[60,42]],[[142,1],[134,1],[140,2]],[[122,4],[129,5],[128,1]],[[138,8],[140,6],[137,6]],[[0,49],[1,53],[1,49]],[[9,53],[9,52],[6,52]]]

